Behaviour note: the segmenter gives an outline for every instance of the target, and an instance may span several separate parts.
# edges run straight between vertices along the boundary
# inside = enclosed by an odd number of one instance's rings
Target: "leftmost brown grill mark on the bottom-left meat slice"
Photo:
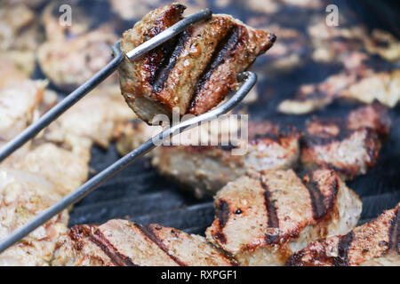
[[[119,266],[139,266],[138,264],[134,264],[130,257],[121,254],[118,249],[107,240],[100,230],[96,230],[94,233],[91,232],[89,234],[89,239],[101,248],[114,264]]]

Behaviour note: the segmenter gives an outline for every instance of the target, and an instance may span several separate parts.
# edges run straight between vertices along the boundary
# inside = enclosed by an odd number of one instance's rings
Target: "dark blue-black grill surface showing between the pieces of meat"
[[[354,9],[348,1],[333,2],[340,7],[340,13],[347,19],[351,19],[355,24],[366,19],[365,15],[368,14],[369,10],[363,10],[363,4],[359,4],[358,9]],[[101,20],[114,20],[109,12],[107,2],[78,1],[78,4],[87,8],[88,12],[96,13]],[[233,1],[231,5],[223,8],[220,8],[213,1],[209,1],[208,6],[215,13],[230,13],[244,22],[252,17],[262,15],[258,12],[249,11],[245,2],[242,1]],[[313,13],[320,12],[308,11],[308,9],[300,10],[299,8],[284,9],[284,11],[271,16],[271,21],[296,28],[307,37],[304,20],[307,21]],[[359,16],[360,12],[363,17]],[[396,13],[396,11],[392,12]],[[394,18],[396,19],[396,14]],[[388,17],[388,19],[393,20],[393,17]],[[370,26],[370,23],[364,23]],[[385,28],[395,27],[391,31],[395,34],[398,33],[396,27],[399,26],[394,26],[393,23],[385,25],[385,23],[380,22],[380,26]],[[118,29],[121,31],[131,27],[132,22],[118,21]],[[274,75],[274,77],[263,73],[262,62],[255,63],[253,70],[259,74],[260,80],[256,87],[260,97],[257,103],[246,106],[246,111],[251,114],[252,119],[291,123],[303,129],[304,122],[313,115],[321,117],[344,116],[354,109],[354,105],[334,102],[325,107],[324,110],[308,115],[278,113],[276,110],[278,104],[283,99],[291,97],[300,84],[321,82],[326,76],[337,73],[341,68],[338,64],[316,63],[309,57],[307,51],[304,60],[305,62],[300,67],[292,69],[291,72]],[[393,67],[373,58],[371,64],[376,69]],[[43,76],[40,70],[36,70],[36,78]],[[60,96],[63,95],[60,94]],[[390,111],[390,117],[394,127],[381,149],[378,164],[365,176],[356,177],[354,181],[348,182],[348,186],[360,195],[364,204],[360,224],[377,217],[384,209],[395,207],[397,202],[400,201],[400,191],[398,190],[400,170],[397,162],[400,158],[400,129],[396,127],[400,122],[398,107]],[[119,158],[116,147],[113,145],[108,150],[93,146],[92,176],[104,170]],[[179,185],[172,181],[160,177],[156,170],[151,168],[147,158],[141,158],[77,203],[71,212],[69,225],[101,224],[112,218],[125,218],[138,224],[158,223],[176,227],[188,233],[204,234],[205,228],[212,223],[214,216],[212,199],[197,200],[188,193],[178,190],[178,187]]]

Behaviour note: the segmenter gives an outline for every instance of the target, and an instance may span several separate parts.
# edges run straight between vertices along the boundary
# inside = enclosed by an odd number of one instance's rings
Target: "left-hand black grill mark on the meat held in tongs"
[[[172,68],[175,67],[176,61],[179,58],[180,53],[183,51],[190,34],[191,33],[186,30],[180,36],[177,36],[172,42],[164,44],[164,57],[150,82],[153,85],[153,91],[156,93],[163,90],[164,83],[168,79]]]

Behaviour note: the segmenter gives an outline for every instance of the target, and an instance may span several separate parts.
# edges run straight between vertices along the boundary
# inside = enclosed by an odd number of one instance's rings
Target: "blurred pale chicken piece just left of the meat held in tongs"
[[[62,91],[72,91],[112,59],[111,46],[116,35],[107,26],[65,40],[43,43],[37,58],[46,75]],[[115,81],[111,76],[108,81]]]

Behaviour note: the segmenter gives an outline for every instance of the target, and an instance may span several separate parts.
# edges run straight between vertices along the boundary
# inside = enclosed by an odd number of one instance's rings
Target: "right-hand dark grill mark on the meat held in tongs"
[[[204,68],[203,74],[200,75],[200,79],[197,83],[196,94],[198,94],[204,83],[210,80],[212,72],[225,62],[228,57],[231,57],[236,50],[237,43],[242,38],[242,27],[234,26],[230,28],[227,35],[218,43],[210,62],[208,62],[207,67]],[[191,101],[191,106],[195,106],[196,94],[193,96]]]

